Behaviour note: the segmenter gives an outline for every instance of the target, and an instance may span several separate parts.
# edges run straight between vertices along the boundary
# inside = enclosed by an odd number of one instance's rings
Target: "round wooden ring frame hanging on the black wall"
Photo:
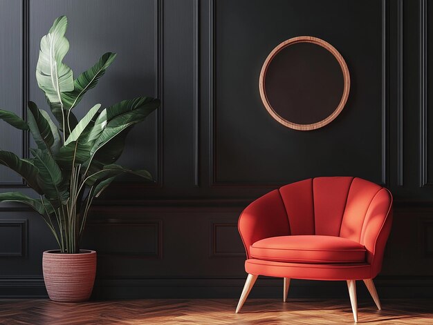
[[[278,54],[279,51],[286,48],[286,46],[291,46],[295,43],[314,43],[318,46],[322,46],[322,48],[325,48],[326,50],[331,52],[331,54],[335,57],[335,59],[337,59],[343,73],[344,90],[340,100],[340,104],[338,104],[337,108],[335,108],[335,110],[331,113],[331,115],[329,115],[325,119],[322,119],[322,121],[318,121],[313,124],[296,124],[291,121],[287,121],[286,119],[283,119],[281,116],[278,115],[277,112],[275,112],[275,110],[273,110],[272,106],[270,106],[268,97],[266,96],[265,77],[270,62],[275,57],[275,55]],[[295,130],[301,130],[301,131],[315,130],[317,128],[322,128],[322,126],[326,126],[326,124],[331,123],[331,121],[333,121],[333,119],[335,119],[335,117],[337,117],[342,111],[342,109],[344,108],[344,105],[347,102],[347,98],[349,97],[349,89],[350,89],[349,69],[347,68],[347,64],[344,61],[343,57],[340,55],[340,52],[338,52],[338,50],[336,50],[333,46],[331,46],[330,43],[324,41],[323,39],[318,39],[317,37],[311,37],[311,36],[293,37],[291,39],[288,39],[287,41],[280,43],[276,48],[272,50],[272,52],[269,53],[268,57],[263,63],[263,67],[261,68],[260,78],[259,78],[259,90],[260,90],[261,101],[263,101],[263,104],[266,110],[268,110],[269,114],[274,119],[279,121],[279,123],[281,123],[282,125],[288,128],[293,128]]]

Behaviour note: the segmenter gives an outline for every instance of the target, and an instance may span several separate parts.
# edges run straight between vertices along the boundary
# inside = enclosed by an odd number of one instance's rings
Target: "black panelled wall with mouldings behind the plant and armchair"
[[[77,108],[150,95],[163,106],[128,139],[121,162],[154,184],[120,179],[95,203],[83,247],[98,250],[95,297],[237,297],[246,276],[237,217],[279,185],[353,175],[387,186],[394,225],[380,295],[433,295],[432,1],[0,0],[0,107],[43,106],[39,40],[66,14],[77,73],[117,52]],[[311,35],[342,54],[349,100],[328,126],[300,132],[266,112],[258,79],[268,53]],[[26,133],[0,124],[0,147],[28,156]],[[0,191],[26,189],[0,167]],[[46,295],[44,222],[0,207],[0,297]],[[279,279],[253,295],[279,297]],[[332,288],[332,290],[329,290]],[[360,295],[365,293],[360,289]],[[295,281],[292,297],[347,295]]]

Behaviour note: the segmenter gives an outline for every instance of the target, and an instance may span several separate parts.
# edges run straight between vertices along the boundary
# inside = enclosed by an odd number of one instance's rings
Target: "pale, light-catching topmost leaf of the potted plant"
[[[65,16],[57,18],[47,35],[41,39],[39,59],[36,66],[36,79],[39,88],[44,90],[51,103],[59,103],[62,108],[62,92],[74,89],[73,72],[62,62],[69,50],[66,37],[68,20]]]

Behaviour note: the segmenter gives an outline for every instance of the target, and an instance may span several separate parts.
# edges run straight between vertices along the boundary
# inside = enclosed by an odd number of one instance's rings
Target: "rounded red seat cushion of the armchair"
[[[290,263],[365,262],[365,252],[365,246],[351,239],[323,235],[270,237],[250,246],[254,259]]]

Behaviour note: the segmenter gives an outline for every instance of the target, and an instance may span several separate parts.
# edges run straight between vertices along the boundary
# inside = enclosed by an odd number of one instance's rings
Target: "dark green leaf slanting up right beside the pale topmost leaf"
[[[62,99],[65,109],[71,109],[77,106],[84,94],[96,86],[98,80],[104,75],[105,70],[116,59],[116,53],[105,53],[89,70],[84,71],[74,81],[74,90],[62,93]]]

